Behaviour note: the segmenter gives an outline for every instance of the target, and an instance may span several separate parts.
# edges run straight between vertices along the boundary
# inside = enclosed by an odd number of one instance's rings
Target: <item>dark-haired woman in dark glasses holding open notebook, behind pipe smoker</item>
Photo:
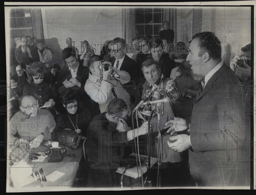
[[[44,77],[48,74],[47,67],[41,62],[35,62],[28,67],[27,73],[33,78],[33,82],[24,87],[23,95],[27,93],[34,94],[39,107],[43,106],[49,100],[54,99],[51,106],[45,109],[48,109],[55,118],[57,113],[53,106],[57,103],[55,107],[58,109],[58,94],[51,83],[44,81]]]

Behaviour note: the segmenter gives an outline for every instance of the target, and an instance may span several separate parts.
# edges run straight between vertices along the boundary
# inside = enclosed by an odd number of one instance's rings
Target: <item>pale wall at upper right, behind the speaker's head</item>
[[[251,43],[250,7],[211,7],[202,10],[202,31],[215,32],[222,43],[222,61],[229,65]]]

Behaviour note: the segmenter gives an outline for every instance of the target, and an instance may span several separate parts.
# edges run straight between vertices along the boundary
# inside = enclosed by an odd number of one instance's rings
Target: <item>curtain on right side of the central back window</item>
[[[163,8],[163,22],[166,20],[170,23],[170,29],[174,30],[173,43],[177,43],[177,9]]]

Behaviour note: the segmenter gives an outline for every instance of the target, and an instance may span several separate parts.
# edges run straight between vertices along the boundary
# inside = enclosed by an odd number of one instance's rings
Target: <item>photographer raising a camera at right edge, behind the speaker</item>
[[[236,55],[230,61],[230,68],[240,80],[246,82],[251,77],[251,43],[242,47],[241,51],[241,55]]]

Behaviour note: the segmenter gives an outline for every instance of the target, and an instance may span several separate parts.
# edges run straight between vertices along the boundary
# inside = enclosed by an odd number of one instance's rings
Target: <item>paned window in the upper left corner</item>
[[[10,10],[10,38],[34,36],[30,9]]]

